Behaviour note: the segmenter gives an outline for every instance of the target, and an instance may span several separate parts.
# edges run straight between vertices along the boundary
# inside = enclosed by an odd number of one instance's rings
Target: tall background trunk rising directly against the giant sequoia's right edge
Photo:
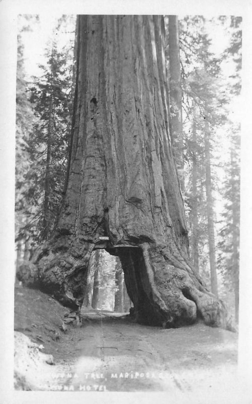
[[[179,56],[178,17],[168,16],[169,26],[169,73],[170,73],[170,112],[176,164],[182,192],[184,192],[184,156],[182,129],[182,83]]]

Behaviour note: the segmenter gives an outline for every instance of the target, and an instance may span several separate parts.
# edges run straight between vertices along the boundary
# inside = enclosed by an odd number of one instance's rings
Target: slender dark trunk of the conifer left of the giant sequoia
[[[50,194],[50,171],[51,171],[51,141],[52,141],[52,95],[50,95],[48,131],[47,131],[47,152],[46,152],[44,205],[43,205],[43,230],[41,232],[43,240],[47,239],[50,229],[49,194]]]

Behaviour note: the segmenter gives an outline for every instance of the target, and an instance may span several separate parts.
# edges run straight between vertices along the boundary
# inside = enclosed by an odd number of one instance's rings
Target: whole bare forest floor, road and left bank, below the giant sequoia
[[[16,288],[17,390],[167,391],[205,396],[192,402],[236,402],[237,334],[202,323],[162,329],[125,314],[81,314],[82,325],[74,320],[64,330],[69,309],[40,291]],[[27,345],[23,334],[40,347]]]

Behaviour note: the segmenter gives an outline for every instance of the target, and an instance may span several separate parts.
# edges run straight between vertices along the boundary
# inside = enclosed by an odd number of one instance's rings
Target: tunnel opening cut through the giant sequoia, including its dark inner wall
[[[92,252],[82,312],[100,310],[129,314],[144,325],[166,320],[154,302],[143,251],[138,246],[98,246]]]

